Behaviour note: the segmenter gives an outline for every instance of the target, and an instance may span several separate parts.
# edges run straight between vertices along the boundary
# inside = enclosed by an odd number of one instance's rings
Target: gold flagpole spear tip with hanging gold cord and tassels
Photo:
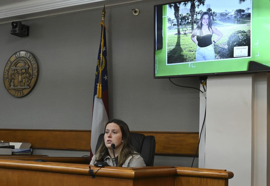
[[[102,71],[102,52],[103,52],[103,46],[104,46],[104,38],[103,38],[103,34],[104,34],[104,21],[105,21],[105,5],[103,7],[102,10],[102,22],[100,23],[100,25],[102,25],[102,38],[101,38],[101,47],[100,47],[100,65],[99,65],[99,83],[97,85],[97,97],[98,98],[102,98],[102,84],[101,84],[101,71]]]

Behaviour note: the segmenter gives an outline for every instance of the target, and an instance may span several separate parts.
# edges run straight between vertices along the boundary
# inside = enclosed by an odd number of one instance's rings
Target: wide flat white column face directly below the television
[[[234,173],[230,186],[251,184],[252,75],[208,77],[205,168]]]

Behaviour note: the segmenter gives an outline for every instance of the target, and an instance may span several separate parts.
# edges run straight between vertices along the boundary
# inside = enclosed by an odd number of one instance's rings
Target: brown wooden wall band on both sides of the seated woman
[[[198,132],[131,131],[153,135],[156,154],[194,156]],[[91,130],[0,129],[0,140],[29,142],[33,149],[90,150]]]

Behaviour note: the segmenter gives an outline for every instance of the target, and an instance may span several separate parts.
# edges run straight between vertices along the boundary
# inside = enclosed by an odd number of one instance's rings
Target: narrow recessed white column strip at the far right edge
[[[269,117],[269,85],[270,74],[254,74],[254,140],[252,162],[252,183],[256,185],[269,186],[269,138],[270,138],[270,117]],[[267,81],[268,80],[268,81]],[[268,91],[267,91],[268,89]],[[268,129],[267,129],[268,126]],[[268,138],[268,143],[267,143]],[[267,164],[268,162],[268,164]],[[268,168],[267,168],[268,166]],[[268,179],[268,181],[267,181]],[[268,184],[267,184],[268,182]]]

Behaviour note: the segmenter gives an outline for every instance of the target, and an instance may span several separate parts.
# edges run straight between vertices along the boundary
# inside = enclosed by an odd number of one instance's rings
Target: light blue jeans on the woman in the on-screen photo
[[[197,46],[196,61],[205,61],[214,59],[215,59],[215,51],[212,44],[207,47]]]

